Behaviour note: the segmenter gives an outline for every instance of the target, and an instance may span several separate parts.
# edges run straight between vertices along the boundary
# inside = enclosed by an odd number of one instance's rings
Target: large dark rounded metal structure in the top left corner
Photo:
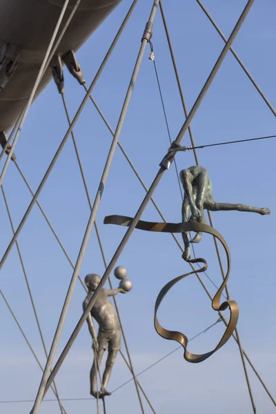
[[[57,65],[57,56],[64,57],[70,50],[79,49],[120,2],[81,0],[51,65]],[[70,0],[64,22],[75,3],[75,0]],[[28,101],[63,4],[63,0],[1,1],[0,132],[14,125]],[[62,28],[61,24],[59,32]],[[36,97],[51,79],[52,71],[48,68]]]

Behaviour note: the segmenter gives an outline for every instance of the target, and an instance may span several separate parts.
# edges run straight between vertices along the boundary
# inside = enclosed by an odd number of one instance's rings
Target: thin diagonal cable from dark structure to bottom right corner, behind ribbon
[[[86,86],[83,85],[83,87],[86,89]],[[181,84],[180,84],[180,88],[181,88]],[[182,96],[183,96],[183,92],[182,92]],[[92,97],[92,95],[90,95],[90,100],[92,101],[92,103],[94,104],[95,108],[97,109],[97,111],[99,112],[99,115],[101,116],[101,118],[103,119],[103,122],[106,124],[106,126],[108,127],[108,129],[110,130],[111,134],[114,135],[114,132],[110,126],[110,124],[108,124],[108,121],[106,119],[106,117],[104,117],[103,112],[101,112],[99,106],[97,105],[95,99]],[[184,105],[185,105],[185,101],[184,101]],[[193,134],[192,131],[190,130],[190,126],[188,127],[190,136],[193,139]],[[192,141],[193,142],[193,141]],[[132,168],[133,172],[135,172],[136,177],[139,179],[141,185],[143,186],[144,190],[146,192],[148,192],[148,187],[146,186],[146,184],[144,184],[144,181],[141,179],[139,173],[137,172],[135,166],[132,164],[132,161],[130,160],[130,158],[128,157],[126,151],[124,150],[124,147],[118,142],[119,148],[121,149],[121,152],[123,152],[124,157],[126,157],[126,160],[128,161],[128,164],[130,165],[130,167]],[[197,159],[197,153],[195,152],[195,158]],[[161,213],[161,210],[159,209],[159,207],[157,206],[157,203],[155,202],[155,200],[153,199],[153,197],[150,197],[150,200],[152,201],[152,204],[155,206],[157,212],[159,213],[161,219],[166,223],[166,218],[164,217],[163,213]],[[184,253],[184,250],[181,246],[181,244],[179,243],[179,240],[177,239],[177,237],[175,236],[175,234],[171,233],[173,239],[175,240],[175,242],[177,243],[177,246],[179,246],[180,250],[182,251],[182,253]],[[193,270],[195,269],[195,266],[193,266],[193,264],[190,264],[191,268],[193,268]],[[210,280],[210,282],[212,284],[214,284],[214,282],[212,281],[212,279],[210,279],[210,277],[208,276],[208,274],[206,272],[204,272],[206,277],[208,277],[208,279]],[[198,273],[195,273],[195,275],[197,276],[197,279],[199,280],[199,283],[201,284],[201,286],[204,288],[206,294],[208,295],[210,300],[213,300],[213,297],[210,295],[208,289],[206,288],[206,285],[204,284],[204,282],[202,281],[201,277],[199,276]],[[214,284],[214,286],[217,288],[217,286]],[[223,294],[223,296],[226,298],[226,296]],[[219,313],[221,319],[223,320],[224,324],[226,326],[228,326],[228,321],[226,320],[226,317],[224,317],[224,315],[222,313]],[[237,337],[233,334],[233,338],[235,339],[235,342],[237,342],[237,344],[239,345],[239,342],[237,340]],[[262,386],[264,387],[266,393],[268,394],[268,396],[270,397],[270,400],[272,400],[273,404],[276,406],[276,402],[273,398],[273,396],[271,395],[270,391],[268,390],[268,388],[266,387],[266,384],[264,383],[264,381],[262,380],[262,377],[259,375],[259,373],[257,372],[255,366],[253,365],[253,363],[250,361],[250,358],[248,357],[248,355],[246,354],[246,352],[243,350],[243,355],[244,357],[247,359],[248,364],[250,364],[251,368],[253,369],[255,375],[257,375],[257,378],[259,380],[259,382],[261,382]]]

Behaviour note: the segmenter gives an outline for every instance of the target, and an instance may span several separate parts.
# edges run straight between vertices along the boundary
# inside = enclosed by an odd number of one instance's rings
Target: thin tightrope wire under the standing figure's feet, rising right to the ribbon
[[[217,319],[217,321],[208,326],[208,328],[204,329],[204,331],[201,331],[199,333],[197,333],[197,335],[193,336],[192,338],[189,339],[189,342],[192,342],[194,339],[196,339],[197,337],[199,337],[200,335],[206,333],[207,331],[209,331],[209,329],[213,328],[215,325],[217,325],[219,322],[221,322],[222,319],[219,317],[219,319]],[[153,364],[150,364],[147,368],[145,368],[143,371],[140,371],[135,378],[139,377],[139,375],[142,375],[144,373],[146,373],[147,371],[149,371],[151,368],[153,368],[154,366],[156,366],[157,364],[159,364],[160,362],[164,361],[164,359],[170,357],[170,355],[172,355],[173,353],[175,353],[176,351],[178,351],[181,348],[180,346],[177,346],[177,348],[175,348],[173,351],[170,351],[169,353],[167,353],[166,355],[164,355],[164,357],[161,357],[160,359],[157,359],[157,361],[155,361]],[[129,384],[131,381],[133,381],[134,378],[130,378],[130,380],[124,382],[123,384],[121,384],[120,386],[118,386],[117,388],[115,388],[115,390],[112,391],[112,394],[115,393],[116,391],[118,391],[120,388],[123,388],[124,386],[126,386],[127,384]],[[88,398],[88,397],[84,397],[84,398],[62,398],[61,401],[85,401],[85,400],[95,400],[95,398]],[[47,398],[45,400],[43,400],[43,402],[53,402],[55,400],[52,400],[50,398]],[[0,404],[12,404],[12,403],[19,403],[19,402],[34,402],[34,400],[6,400],[6,401],[1,401],[0,400]]]

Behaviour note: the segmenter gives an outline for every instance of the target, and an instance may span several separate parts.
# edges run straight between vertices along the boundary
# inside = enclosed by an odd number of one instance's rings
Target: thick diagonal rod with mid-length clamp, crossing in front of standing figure
[[[235,25],[235,28],[231,32],[230,37],[229,37],[226,45],[224,46],[223,50],[221,51],[221,54],[219,55],[219,57],[218,57],[218,59],[215,63],[215,66],[213,67],[213,70],[210,72],[210,75],[209,75],[208,79],[206,80],[206,83],[204,84],[204,87],[201,89],[201,92],[199,93],[199,96],[197,97],[197,99],[196,99],[196,101],[193,105],[193,108],[190,110],[188,118],[186,119],[183,126],[179,130],[179,133],[178,133],[177,138],[175,140],[176,145],[179,145],[181,143],[181,139],[183,138],[184,133],[186,132],[186,130],[188,128],[188,125],[190,125],[190,122],[192,121],[193,117],[195,116],[195,113],[197,112],[197,108],[199,108],[199,105],[200,105],[201,101],[204,99],[204,96],[206,95],[206,92],[207,92],[208,88],[210,87],[210,84],[212,83],[213,79],[215,78],[215,75],[217,74],[217,71],[219,70],[222,61],[224,61],[224,58],[226,57],[226,54],[227,54],[231,44],[233,43],[237,33],[239,32],[239,28],[241,28],[242,23],[243,23],[244,19],[246,18],[246,15],[248,14],[251,6],[253,6],[253,2],[254,2],[254,0],[248,0],[248,2],[246,3],[246,6],[245,6],[241,16],[239,17],[239,19],[238,19],[238,21]],[[155,15],[158,3],[159,3],[159,0],[155,0],[155,4],[152,8],[151,16],[152,16],[152,14]],[[150,21],[152,21],[152,19],[150,19]],[[148,27],[148,25],[147,25],[147,27]],[[144,35],[146,35],[147,33],[148,32],[145,30]],[[148,41],[147,38],[143,39],[140,50],[143,50],[143,46],[144,46],[144,48],[146,48],[147,41]],[[132,76],[132,78],[133,78],[133,76]],[[130,89],[132,89],[132,87],[134,85],[133,80],[134,79],[132,79],[130,81]],[[120,119],[121,119],[121,117],[120,117]],[[115,137],[117,136],[117,138],[119,137],[118,136],[119,135],[119,133],[118,133],[119,130],[120,130],[120,128],[117,128],[117,132],[115,133]],[[110,275],[112,268],[115,266],[115,264],[117,262],[117,259],[121,255],[121,252],[124,250],[124,247],[126,246],[126,244],[128,242],[128,239],[130,238],[130,235],[132,234],[133,230],[135,229],[135,226],[136,226],[137,222],[139,221],[142,213],[144,212],[144,210],[145,210],[145,208],[148,204],[148,201],[150,201],[150,197],[154,193],[155,188],[157,188],[157,186],[159,184],[159,181],[161,180],[161,177],[163,176],[165,170],[169,168],[170,160],[172,160],[172,158],[169,154],[167,154],[164,157],[164,159],[162,159],[162,161],[160,163],[160,168],[157,172],[157,175],[156,175],[155,179],[152,181],[152,184],[151,184],[151,186],[148,190],[148,193],[146,194],[146,197],[144,198],[141,205],[139,206],[135,217],[132,219],[131,224],[128,227],[128,230],[126,230],[126,233],[125,233],[123,239],[121,240],[121,243],[119,244],[115,254],[113,255],[110,263],[108,264],[108,268],[106,269],[106,272],[103,274],[103,277],[101,277],[99,285],[97,286],[97,289],[95,290],[95,294],[91,297],[90,302],[88,302],[88,306],[86,308],[86,311],[84,311],[83,314],[81,315],[81,318],[79,319],[79,322],[77,322],[77,325],[75,326],[75,329],[72,332],[72,335],[68,339],[68,342],[67,342],[66,346],[63,348],[63,351],[61,352],[61,355],[60,355],[59,359],[57,360],[57,363],[55,364],[55,367],[53,368],[52,373],[48,377],[48,381],[47,381],[47,384],[46,384],[46,387],[45,387],[45,393],[47,392],[48,387],[52,383],[52,380],[55,378],[55,375],[57,375],[57,372],[59,371],[59,368],[60,368],[61,364],[63,363],[64,359],[66,358],[66,355],[70,351],[70,348],[71,348],[72,344],[75,342],[75,339],[76,339],[77,335],[79,334],[79,331],[81,330],[81,326],[84,324],[84,322],[86,322],[86,318],[88,317],[88,314],[90,313],[92,307],[94,306],[94,304],[97,300],[97,297],[99,296],[99,293],[101,292],[101,289],[103,288],[103,285],[106,283],[106,281],[108,279],[108,275]],[[32,414],[37,414],[37,413],[32,413]]]

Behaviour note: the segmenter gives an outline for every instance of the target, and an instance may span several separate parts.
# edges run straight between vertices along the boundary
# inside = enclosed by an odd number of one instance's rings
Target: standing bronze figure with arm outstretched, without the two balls
[[[85,278],[85,284],[88,288],[88,295],[83,302],[83,311],[86,310],[88,302],[99,284],[101,278],[99,275],[90,274]],[[106,395],[111,395],[106,391],[106,386],[110,378],[112,366],[114,365],[117,352],[121,348],[121,333],[119,321],[115,312],[114,306],[108,299],[109,296],[115,296],[117,293],[126,293],[122,288],[118,289],[102,289],[99,297],[95,302],[90,314],[87,317],[87,323],[90,335],[92,336],[92,348],[94,351],[94,362],[90,371],[90,394],[93,397],[102,398]],[[94,317],[99,324],[99,332],[96,334],[95,326],[92,321]],[[97,373],[101,364],[104,351],[108,348],[108,357],[106,359],[106,368],[103,373],[101,391],[96,390]]]

